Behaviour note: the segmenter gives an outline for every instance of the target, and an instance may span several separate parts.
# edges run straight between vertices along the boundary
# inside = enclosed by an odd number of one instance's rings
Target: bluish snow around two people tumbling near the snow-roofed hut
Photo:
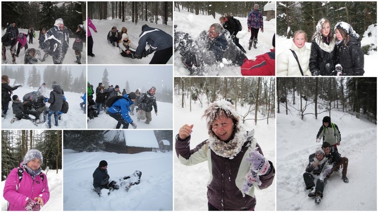
[[[142,131],[140,131],[143,133]],[[93,191],[94,170],[101,160],[108,163],[110,180],[142,172],[141,182],[128,192],[122,188],[110,195]],[[64,150],[65,210],[172,210],[172,152],[117,154],[108,152],[77,153]]]

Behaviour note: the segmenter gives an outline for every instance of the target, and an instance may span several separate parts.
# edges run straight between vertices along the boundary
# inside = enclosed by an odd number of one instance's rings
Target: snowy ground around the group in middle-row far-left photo
[[[46,87],[46,97],[50,97],[50,88]],[[22,101],[22,97],[30,92],[36,91],[37,89],[20,87],[13,91],[13,95],[18,95],[19,99]],[[61,119],[58,121],[59,126],[54,126],[54,117],[51,116],[51,129],[85,129],[87,116],[83,113],[83,110],[80,109],[80,103],[83,100],[80,98],[83,94],[65,92],[65,97],[67,102],[70,105],[69,111],[66,114],[61,115]],[[46,103],[46,106],[49,107],[50,104]],[[30,117],[34,118],[32,115]],[[40,123],[38,126],[34,125],[30,120],[21,119],[11,123],[13,118],[12,102],[9,103],[9,110],[6,118],[2,118],[2,129],[38,129],[38,128],[47,128],[47,120],[45,123]],[[43,114],[40,115],[40,119],[43,120]]]

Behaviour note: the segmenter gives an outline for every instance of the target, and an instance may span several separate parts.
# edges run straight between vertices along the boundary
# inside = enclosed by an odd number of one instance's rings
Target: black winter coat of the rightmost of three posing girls
[[[361,42],[350,36],[348,44],[344,45],[345,40],[336,44],[336,64],[343,67],[343,75],[346,76],[363,76],[365,71],[364,54],[361,49]]]

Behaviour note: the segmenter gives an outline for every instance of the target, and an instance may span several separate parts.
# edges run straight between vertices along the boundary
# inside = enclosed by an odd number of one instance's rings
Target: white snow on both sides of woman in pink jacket
[[[56,173],[56,170],[42,170],[43,173],[47,176],[47,182],[48,182],[48,189],[50,191],[50,199],[45,203],[43,207],[41,207],[41,210],[45,211],[62,211],[63,210],[63,194],[62,194],[62,170],[59,169],[58,173]],[[2,198],[2,210],[7,210],[8,207],[8,201],[4,199],[3,197],[3,191],[4,191],[4,185],[5,180],[1,183],[0,188],[0,194]]]

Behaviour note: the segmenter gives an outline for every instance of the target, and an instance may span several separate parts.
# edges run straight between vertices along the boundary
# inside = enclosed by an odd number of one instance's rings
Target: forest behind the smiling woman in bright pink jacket
[[[42,153],[42,170],[62,167],[61,130],[2,130],[2,181],[18,167],[28,150]]]

